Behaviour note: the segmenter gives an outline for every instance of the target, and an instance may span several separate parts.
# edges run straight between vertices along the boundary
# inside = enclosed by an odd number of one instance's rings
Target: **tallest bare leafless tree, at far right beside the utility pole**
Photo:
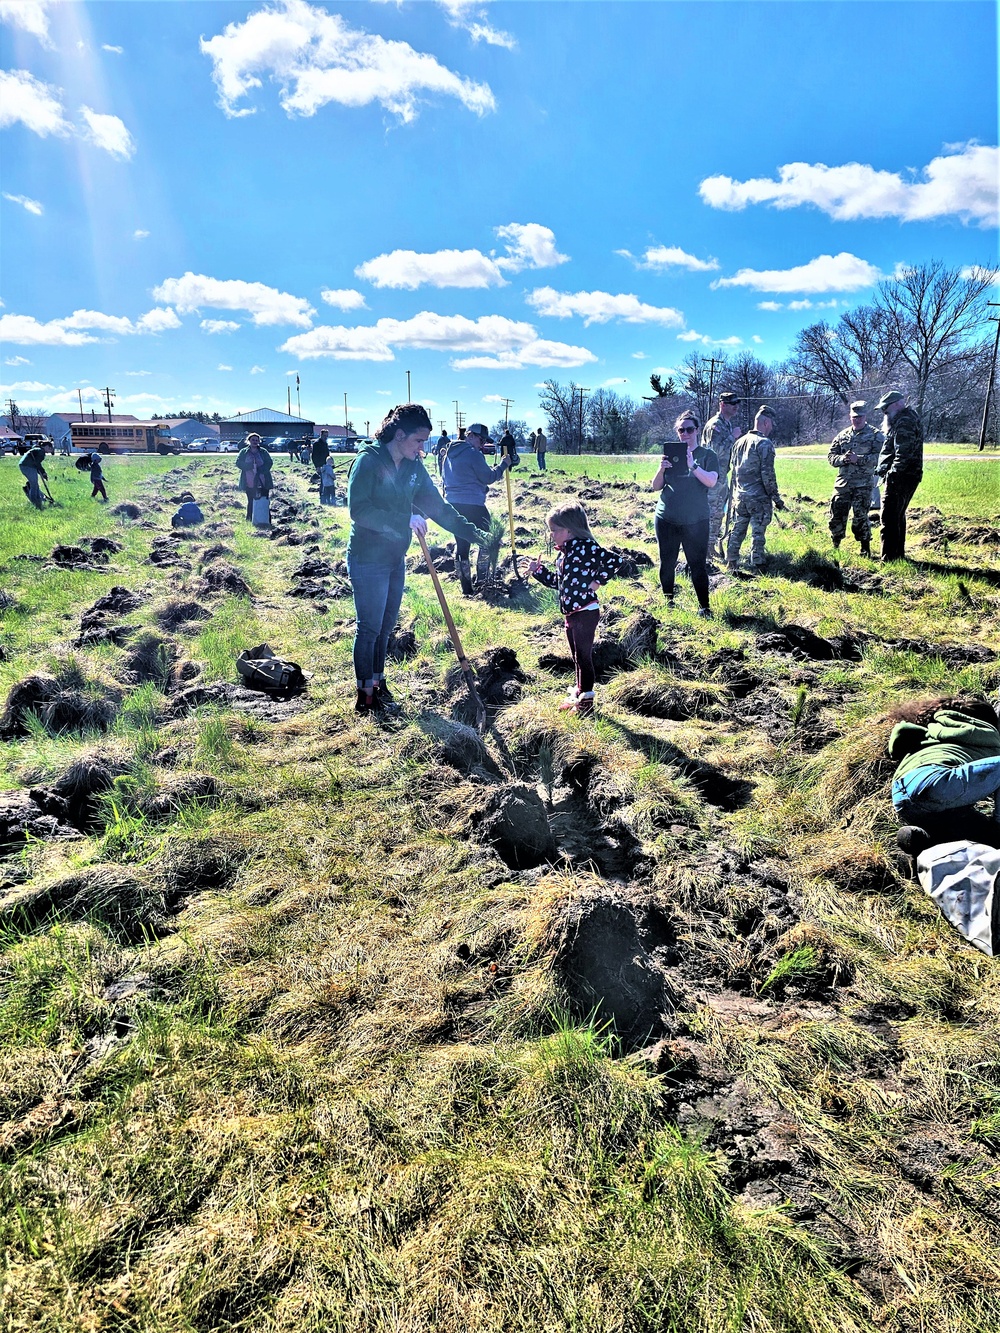
[[[983,265],[948,268],[931,260],[879,284],[876,304],[908,368],[919,416],[935,375],[980,355],[985,305],[997,272]]]

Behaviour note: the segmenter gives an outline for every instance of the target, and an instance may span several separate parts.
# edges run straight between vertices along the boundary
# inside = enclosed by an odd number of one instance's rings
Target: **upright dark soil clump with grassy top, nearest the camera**
[[[577,1018],[613,1024],[627,1050],[668,1030],[676,996],[664,969],[679,960],[677,940],[648,897],[607,888],[571,898],[547,942]]]

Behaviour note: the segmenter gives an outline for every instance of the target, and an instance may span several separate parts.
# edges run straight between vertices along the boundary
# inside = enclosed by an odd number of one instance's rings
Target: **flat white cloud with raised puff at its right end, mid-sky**
[[[357,277],[375,287],[401,288],[408,292],[417,287],[504,287],[505,273],[520,273],[525,268],[555,268],[565,264],[568,255],[556,249],[551,228],[539,223],[508,223],[496,228],[504,241],[505,255],[489,256],[479,249],[444,249],[419,253],[417,251],[391,251],[379,255],[355,269]]]

